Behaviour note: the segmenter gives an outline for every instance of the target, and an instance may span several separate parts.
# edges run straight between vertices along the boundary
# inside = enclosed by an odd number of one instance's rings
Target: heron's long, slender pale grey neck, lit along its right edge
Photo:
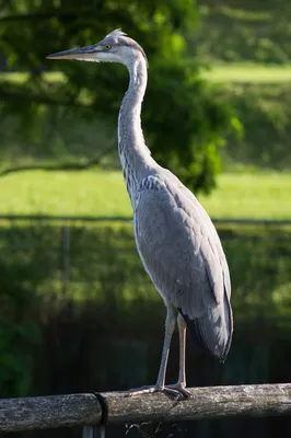
[[[141,129],[141,103],[147,88],[148,72],[141,54],[128,66],[129,87],[123,100],[118,118],[118,151],[131,204],[140,180],[155,164],[147,148]]]

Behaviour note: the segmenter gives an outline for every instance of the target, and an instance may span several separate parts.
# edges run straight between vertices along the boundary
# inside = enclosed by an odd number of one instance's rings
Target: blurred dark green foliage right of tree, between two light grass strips
[[[226,84],[217,91],[236,110],[244,136],[230,136],[224,169],[291,169],[290,84]]]

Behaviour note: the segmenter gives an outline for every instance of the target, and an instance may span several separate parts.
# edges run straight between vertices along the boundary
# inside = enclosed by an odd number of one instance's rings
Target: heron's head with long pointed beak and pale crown
[[[120,30],[113,31],[93,46],[74,48],[48,55],[48,59],[78,59],[80,61],[121,62],[129,66],[138,55],[147,57],[140,45]]]

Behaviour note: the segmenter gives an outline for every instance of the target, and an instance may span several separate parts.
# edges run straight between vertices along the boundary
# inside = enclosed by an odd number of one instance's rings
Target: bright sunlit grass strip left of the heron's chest
[[[120,172],[22,172],[0,180],[1,214],[129,216]]]

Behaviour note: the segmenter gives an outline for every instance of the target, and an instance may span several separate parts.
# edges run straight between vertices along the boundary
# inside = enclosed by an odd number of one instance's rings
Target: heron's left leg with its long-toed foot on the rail
[[[164,335],[164,344],[163,344],[163,349],[162,349],[162,358],[161,358],[161,365],[160,365],[160,370],[156,379],[155,385],[152,387],[142,387],[138,389],[130,390],[128,392],[128,395],[135,395],[135,394],[140,394],[140,393],[150,393],[150,392],[156,392],[156,391],[163,391],[165,388],[165,373],[166,373],[166,365],[167,365],[167,358],[168,358],[168,351],[170,351],[170,345],[173,336],[173,332],[175,330],[175,313],[173,306],[170,302],[166,302],[166,320],[165,320],[165,335]],[[168,390],[168,392],[173,392],[176,394],[177,391]]]

